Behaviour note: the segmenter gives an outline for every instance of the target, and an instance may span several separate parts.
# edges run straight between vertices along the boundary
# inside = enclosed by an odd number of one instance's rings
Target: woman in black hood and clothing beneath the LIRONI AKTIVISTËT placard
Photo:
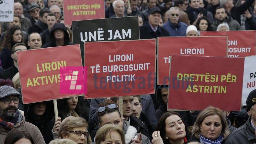
[[[28,105],[26,121],[37,126],[46,144],[53,140],[53,112],[53,101],[38,102]]]

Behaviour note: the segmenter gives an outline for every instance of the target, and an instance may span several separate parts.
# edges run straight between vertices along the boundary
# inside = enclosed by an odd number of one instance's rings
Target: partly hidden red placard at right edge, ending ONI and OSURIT
[[[201,31],[201,36],[228,36],[228,57],[256,54],[255,31]]]

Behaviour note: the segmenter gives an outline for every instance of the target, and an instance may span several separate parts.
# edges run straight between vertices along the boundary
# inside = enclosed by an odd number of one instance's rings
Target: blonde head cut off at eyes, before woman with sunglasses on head
[[[102,126],[96,133],[95,143],[101,144],[105,142],[125,144],[123,130],[113,124]]]

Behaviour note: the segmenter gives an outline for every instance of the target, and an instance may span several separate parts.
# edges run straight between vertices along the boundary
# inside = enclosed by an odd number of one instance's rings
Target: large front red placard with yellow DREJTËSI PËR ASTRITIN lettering
[[[244,58],[173,55],[168,110],[241,109]]]

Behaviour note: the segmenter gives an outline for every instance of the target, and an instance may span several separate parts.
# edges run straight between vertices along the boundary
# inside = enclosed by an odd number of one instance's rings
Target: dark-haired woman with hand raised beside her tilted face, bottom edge
[[[181,115],[176,112],[164,113],[152,134],[152,144],[185,144],[187,138],[187,128]]]

